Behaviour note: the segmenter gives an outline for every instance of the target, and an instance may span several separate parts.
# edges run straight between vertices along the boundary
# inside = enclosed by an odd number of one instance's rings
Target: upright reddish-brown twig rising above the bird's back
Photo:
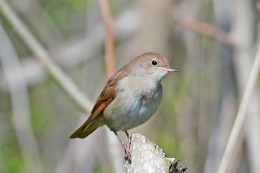
[[[115,72],[114,34],[113,34],[112,22],[111,22],[110,11],[109,11],[107,0],[99,0],[99,6],[101,8],[105,32],[106,32],[105,59],[106,59],[107,75],[108,77],[110,77]]]

